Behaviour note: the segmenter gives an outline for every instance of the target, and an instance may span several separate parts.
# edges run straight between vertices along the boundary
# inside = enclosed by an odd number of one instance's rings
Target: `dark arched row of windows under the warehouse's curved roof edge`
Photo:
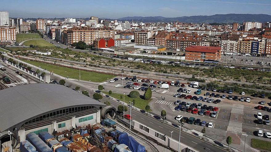
[[[63,115],[69,115],[71,113],[85,111],[85,110],[88,110],[91,108],[94,108],[94,107],[93,106],[82,106],[82,107],[73,107],[73,108],[67,108],[67,109],[63,109],[63,110],[59,110],[59,111],[54,111],[54,112],[48,113],[46,115],[39,116],[35,119],[28,120],[28,122],[26,122],[25,124],[36,123],[36,122],[39,122],[42,120],[46,120],[46,119],[50,119],[50,118],[54,118],[54,117],[60,117]]]

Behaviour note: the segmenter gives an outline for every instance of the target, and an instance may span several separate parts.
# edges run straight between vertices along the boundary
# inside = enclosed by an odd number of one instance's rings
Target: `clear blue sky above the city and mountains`
[[[271,0],[0,0],[0,11],[20,18],[181,17],[269,14]]]

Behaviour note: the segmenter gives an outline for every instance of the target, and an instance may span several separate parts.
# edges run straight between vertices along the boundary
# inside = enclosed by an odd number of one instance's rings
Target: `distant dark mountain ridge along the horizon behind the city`
[[[246,21],[268,22],[271,21],[271,15],[267,14],[215,14],[215,15],[199,15],[199,16],[183,16],[176,18],[166,18],[162,16],[134,16],[119,18],[118,21],[134,21],[134,22],[185,22],[185,23],[242,23]]]

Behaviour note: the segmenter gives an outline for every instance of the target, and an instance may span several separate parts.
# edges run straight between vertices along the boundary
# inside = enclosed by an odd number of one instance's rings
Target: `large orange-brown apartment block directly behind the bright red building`
[[[67,29],[67,44],[84,41],[87,45],[92,45],[98,38],[115,37],[115,30],[107,28],[73,27]]]

